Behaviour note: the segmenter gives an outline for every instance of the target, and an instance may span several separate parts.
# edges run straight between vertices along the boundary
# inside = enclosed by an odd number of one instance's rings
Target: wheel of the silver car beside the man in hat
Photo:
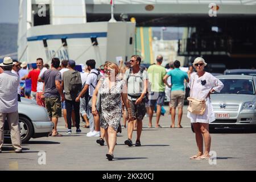
[[[22,143],[28,142],[34,133],[32,123],[25,117],[19,117],[20,138]]]

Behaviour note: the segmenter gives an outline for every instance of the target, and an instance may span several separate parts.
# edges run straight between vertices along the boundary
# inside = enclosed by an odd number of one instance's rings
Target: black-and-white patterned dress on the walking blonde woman
[[[108,126],[113,127],[117,131],[122,117],[121,94],[125,81],[116,79],[114,86],[109,89],[107,78],[101,79],[100,93],[100,121],[101,127],[107,129]]]

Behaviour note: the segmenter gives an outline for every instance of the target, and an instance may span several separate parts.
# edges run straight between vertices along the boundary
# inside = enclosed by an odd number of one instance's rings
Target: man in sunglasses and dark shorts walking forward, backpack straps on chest
[[[127,94],[131,113],[134,120],[137,119],[137,140],[135,146],[141,146],[142,119],[146,114],[146,93],[148,85],[147,71],[140,68],[141,57],[138,55],[131,56],[131,68],[127,69],[123,80],[127,83]],[[128,139],[125,144],[133,146],[131,141],[133,135],[133,122],[128,123]]]

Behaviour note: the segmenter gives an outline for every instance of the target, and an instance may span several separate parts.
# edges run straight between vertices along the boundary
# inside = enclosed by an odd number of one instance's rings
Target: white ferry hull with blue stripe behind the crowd
[[[51,63],[59,57],[85,64],[94,59],[98,67],[116,57],[126,61],[134,53],[134,36],[135,22],[86,22],[84,0],[19,1],[20,62],[42,57]]]

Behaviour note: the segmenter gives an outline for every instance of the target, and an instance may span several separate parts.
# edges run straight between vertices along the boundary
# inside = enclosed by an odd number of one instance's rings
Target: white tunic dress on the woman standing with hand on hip
[[[201,80],[206,81],[205,85],[201,84]],[[192,123],[213,122],[215,120],[215,115],[213,112],[212,103],[210,102],[210,98],[207,97],[207,95],[211,89],[214,89],[216,92],[220,92],[224,87],[222,82],[208,72],[205,72],[201,77],[199,77],[196,73],[191,75],[188,86],[191,88],[190,97],[196,98],[198,100],[206,100],[205,103],[207,107],[203,115],[193,114],[188,111],[187,117],[191,119]]]

